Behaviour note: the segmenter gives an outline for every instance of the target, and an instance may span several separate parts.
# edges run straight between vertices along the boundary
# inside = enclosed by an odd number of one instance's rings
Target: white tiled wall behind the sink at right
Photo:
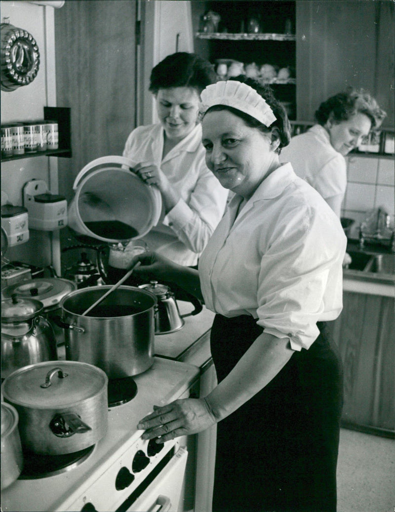
[[[347,190],[342,205],[342,217],[355,219],[352,238],[358,238],[360,222],[366,210],[384,206],[395,217],[395,160],[380,157],[347,157]]]

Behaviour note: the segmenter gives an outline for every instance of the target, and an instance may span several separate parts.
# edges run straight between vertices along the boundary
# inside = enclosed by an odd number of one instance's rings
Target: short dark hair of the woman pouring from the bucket
[[[198,94],[217,81],[214,66],[196,53],[177,52],[168,55],[151,71],[150,88],[153,94],[159,89],[192,87]]]

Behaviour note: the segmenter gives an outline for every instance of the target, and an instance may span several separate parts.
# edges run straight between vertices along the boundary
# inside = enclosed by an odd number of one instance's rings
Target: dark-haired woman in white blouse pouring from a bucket
[[[150,78],[160,122],[137,127],[123,150],[141,179],[162,196],[161,219],[144,241],[180,265],[197,264],[227,199],[205,164],[198,118],[200,93],[216,79],[211,63],[196,54],[164,58]]]

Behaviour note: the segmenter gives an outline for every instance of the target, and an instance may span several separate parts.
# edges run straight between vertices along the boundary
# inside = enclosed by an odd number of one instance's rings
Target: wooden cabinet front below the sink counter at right
[[[343,293],[332,323],[344,367],[344,426],[393,436],[395,412],[394,299]]]

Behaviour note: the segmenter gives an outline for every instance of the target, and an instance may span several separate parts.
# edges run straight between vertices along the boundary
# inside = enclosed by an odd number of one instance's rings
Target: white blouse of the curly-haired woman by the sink
[[[293,137],[282,148],[280,161],[290,162],[295,173],[324,199],[339,196],[343,200],[347,186],[346,161],[330,144],[329,134],[320,124]]]

